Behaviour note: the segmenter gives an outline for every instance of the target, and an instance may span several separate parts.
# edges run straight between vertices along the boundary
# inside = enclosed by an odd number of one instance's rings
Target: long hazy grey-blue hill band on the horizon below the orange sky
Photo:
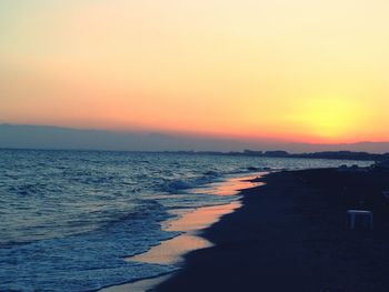
[[[78,149],[118,151],[255,151],[282,150],[289,153],[322,151],[389,152],[389,142],[353,144],[308,144],[273,141],[174,135],[167,133],[79,130],[50,125],[0,124],[0,148]]]

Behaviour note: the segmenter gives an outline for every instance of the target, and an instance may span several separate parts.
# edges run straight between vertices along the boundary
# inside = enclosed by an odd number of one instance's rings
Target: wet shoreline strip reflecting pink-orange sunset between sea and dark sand
[[[181,234],[170,240],[162,241],[160,244],[152,246],[144,253],[126,258],[126,261],[174,265],[177,266],[177,271],[180,270],[181,266],[184,265],[184,254],[196,250],[211,248],[213,245],[213,243],[201,235],[203,230],[220,221],[223,215],[232,213],[241,208],[241,189],[260,184],[260,182],[255,181],[255,178],[259,178],[258,175],[261,174],[229,178],[227,181],[212,183],[211,185],[213,188],[208,189],[207,191],[210,195],[237,195],[237,199],[226,204],[192,209],[179,214],[178,218],[162,222],[162,230],[178,231],[181,232]],[[177,271],[153,278],[141,279],[130,283],[102,288],[98,291],[150,291],[160,283],[169,280]]]

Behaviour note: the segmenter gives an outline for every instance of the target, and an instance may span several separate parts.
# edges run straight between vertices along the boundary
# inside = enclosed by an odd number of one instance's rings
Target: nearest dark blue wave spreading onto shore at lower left
[[[171,272],[177,268],[124,261],[179,235],[160,229],[169,218],[158,202],[141,200],[131,212],[91,232],[2,248],[0,290],[91,291]]]

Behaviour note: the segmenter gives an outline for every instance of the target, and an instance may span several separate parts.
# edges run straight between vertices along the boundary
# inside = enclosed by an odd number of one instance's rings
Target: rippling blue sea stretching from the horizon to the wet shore
[[[0,150],[0,291],[91,291],[177,269],[124,261],[177,232],[178,210],[229,203],[209,185],[263,170],[369,162]]]

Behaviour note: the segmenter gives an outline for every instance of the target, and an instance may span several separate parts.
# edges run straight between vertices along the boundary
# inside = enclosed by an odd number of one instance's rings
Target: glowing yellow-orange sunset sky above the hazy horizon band
[[[386,0],[2,0],[0,122],[389,141]]]

